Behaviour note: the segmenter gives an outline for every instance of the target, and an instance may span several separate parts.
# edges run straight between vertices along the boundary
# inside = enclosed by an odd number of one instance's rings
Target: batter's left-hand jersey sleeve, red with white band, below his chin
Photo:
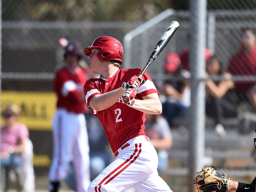
[[[84,84],[84,97],[86,100],[87,108],[91,109],[89,106],[89,101],[92,99],[95,95],[101,95],[100,91],[98,90],[97,86],[95,86],[92,79],[86,81]]]

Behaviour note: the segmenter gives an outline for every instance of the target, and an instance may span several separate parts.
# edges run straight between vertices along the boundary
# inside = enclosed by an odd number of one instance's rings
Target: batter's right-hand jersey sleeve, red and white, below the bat
[[[159,95],[159,93],[156,90],[156,86],[154,85],[152,79],[150,78],[147,72],[144,73],[142,78],[145,80],[145,83],[138,88],[139,96],[144,97],[151,93],[157,93]]]

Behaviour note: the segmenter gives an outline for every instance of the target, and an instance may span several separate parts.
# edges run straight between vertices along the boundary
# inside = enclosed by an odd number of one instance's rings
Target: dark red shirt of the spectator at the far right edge
[[[229,60],[228,72],[232,75],[256,75],[256,46],[247,53],[243,48]],[[237,82],[236,87],[247,91],[255,82]]]

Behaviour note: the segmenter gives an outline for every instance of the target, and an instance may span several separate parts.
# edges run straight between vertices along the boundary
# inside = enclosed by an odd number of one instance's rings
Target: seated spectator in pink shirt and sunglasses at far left
[[[24,162],[22,153],[26,150],[28,128],[17,122],[19,114],[20,108],[13,103],[7,104],[2,113],[4,126],[1,127],[1,170],[5,173],[3,191],[8,189],[9,170],[22,166]]]

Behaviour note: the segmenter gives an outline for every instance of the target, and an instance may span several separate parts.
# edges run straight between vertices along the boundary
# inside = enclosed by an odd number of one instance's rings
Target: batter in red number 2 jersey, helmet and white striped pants
[[[130,186],[143,192],[172,191],[158,175],[156,150],[145,134],[145,113],[162,112],[150,76],[145,73],[142,81],[137,76],[141,69],[119,69],[123,46],[113,37],[98,37],[84,53],[92,71],[101,74],[84,85],[87,107],[103,125],[115,158],[88,192],[123,191]]]

